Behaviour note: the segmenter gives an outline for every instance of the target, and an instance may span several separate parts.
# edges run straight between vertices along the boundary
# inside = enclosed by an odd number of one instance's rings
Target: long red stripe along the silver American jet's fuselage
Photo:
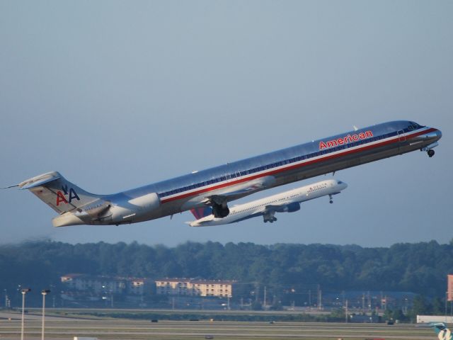
[[[424,135],[425,133],[429,133],[429,132],[434,132],[436,130],[437,129],[435,129],[435,128],[430,128],[428,130],[420,131],[420,132],[414,133],[413,135],[406,136],[406,140],[411,140],[413,137]],[[256,174],[256,175],[253,175],[253,176],[249,176],[249,177],[247,177],[245,179],[238,179],[236,181],[231,181],[231,182],[228,182],[228,183],[222,183],[222,184],[219,184],[218,186],[212,186],[210,188],[204,188],[204,189],[201,189],[201,190],[198,190],[198,191],[193,191],[191,193],[183,193],[183,195],[174,196],[174,197],[171,197],[171,198],[163,198],[161,200],[161,203],[168,203],[168,202],[172,202],[173,200],[180,200],[182,198],[187,198],[187,197],[190,197],[190,196],[198,196],[198,195],[200,195],[200,193],[207,193],[209,191],[214,191],[214,190],[217,190],[217,189],[225,188],[226,186],[234,186],[234,185],[239,184],[239,183],[252,181],[253,179],[259,179],[260,177],[270,176],[270,175],[274,175],[274,174],[280,174],[280,172],[301,168],[302,166],[308,166],[308,165],[311,165],[311,164],[316,164],[316,163],[319,163],[319,162],[326,161],[328,159],[335,159],[335,158],[343,157],[344,155],[347,155],[347,154],[354,154],[354,153],[357,153],[357,152],[362,152],[362,151],[366,151],[366,150],[369,150],[369,149],[374,149],[375,147],[382,147],[384,145],[389,145],[389,144],[392,144],[394,142],[399,142],[398,136],[392,137],[392,138],[393,138],[392,140],[384,140],[384,141],[382,141],[380,143],[377,143],[377,144],[374,144],[374,145],[364,145],[363,147],[360,147],[360,148],[357,148],[357,149],[345,150],[344,152],[340,152],[339,154],[326,154],[325,156],[323,156],[323,157],[321,157],[319,159],[313,159],[311,161],[303,162],[303,163],[300,163],[300,164],[294,164],[294,165],[286,166],[285,168],[271,170],[271,171],[265,172],[263,174]]]

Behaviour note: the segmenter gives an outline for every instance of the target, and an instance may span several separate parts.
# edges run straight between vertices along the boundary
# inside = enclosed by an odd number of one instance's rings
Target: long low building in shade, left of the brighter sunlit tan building
[[[77,290],[94,294],[144,295],[151,293],[147,278],[122,278],[111,276],[91,276],[87,274],[67,274],[61,282],[68,290]]]

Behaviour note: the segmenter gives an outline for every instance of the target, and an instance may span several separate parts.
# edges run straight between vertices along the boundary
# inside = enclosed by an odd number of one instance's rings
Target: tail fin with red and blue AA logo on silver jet
[[[18,187],[28,189],[59,214],[76,210],[99,198],[67,181],[57,171],[27,179],[19,183]]]

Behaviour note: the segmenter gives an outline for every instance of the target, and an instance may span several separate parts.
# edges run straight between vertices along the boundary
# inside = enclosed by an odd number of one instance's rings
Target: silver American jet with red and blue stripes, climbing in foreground
[[[206,206],[222,218],[229,215],[231,200],[257,191],[415,150],[432,157],[440,137],[440,130],[399,120],[111,195],[88,193],[57,171],[16,186],[30,190],[59,214],[52,220],[55,227],[143,222]]]

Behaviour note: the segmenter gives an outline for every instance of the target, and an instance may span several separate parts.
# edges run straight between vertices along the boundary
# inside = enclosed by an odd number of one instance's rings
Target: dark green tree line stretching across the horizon
[[[453,245],[435,241],[389,247],[331,244],[132,242],[0,245],[0,289],[45,288],[67,273],[139,278],[204,278],[258,283],[281,290],[399,290],[444,297],[453,273]]]

